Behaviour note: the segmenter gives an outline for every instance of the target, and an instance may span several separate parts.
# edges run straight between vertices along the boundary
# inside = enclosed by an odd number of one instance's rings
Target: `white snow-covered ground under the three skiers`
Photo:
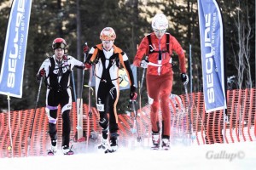
[[[80,150],[73,156],[29,156],[2,158],[4,170],[169,170],[169,169],[256,169],[256,143],[172,145],[171,150],[151,150],[150,147],[119,147],[115,153],[102,150]]]

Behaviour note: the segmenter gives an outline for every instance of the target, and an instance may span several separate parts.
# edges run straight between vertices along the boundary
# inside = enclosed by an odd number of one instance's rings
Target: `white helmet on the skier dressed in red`
[[[165,14],[155,14],[152,20],[153,30],[166,30],[168,28],[168,20]]]

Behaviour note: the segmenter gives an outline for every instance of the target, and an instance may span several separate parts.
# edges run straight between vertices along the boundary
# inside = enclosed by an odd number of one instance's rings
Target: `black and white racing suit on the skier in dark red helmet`
[[[43,68],[46,73],[45,83],[46,91],[46,107],[45,111],[49,119],[49,136],[53,142],[57,139],[57,111],[58,105],[61,105],[62,116],[62,144],[69,148],[70,140],[70,118],[69,113],[72,108],[72,94],[70,89],[70,73],[73,67],[84,68],[84,64],[72,56],[64,55],[63,59],[58,60],[55,55],[45,59],[39,71]],[[39,74],[38,71],[38,74]]]

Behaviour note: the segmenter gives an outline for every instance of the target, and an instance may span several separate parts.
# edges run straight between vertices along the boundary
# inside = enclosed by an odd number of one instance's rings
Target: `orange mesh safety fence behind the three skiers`
[[[236,143],[256,142],[256,93],[255,88],[236,89],[227,92],[227,110],[205,111],[203,93],[186,95],[172,95],[170,97],[171,120],[171,141],[193,137],[192,144],[215,144],[215,143]],[[79,142],[77,136],[77,111],[76,103],[70,113],[72,122],[71,141]],[[46,156],[50,140],[48,134],[48,119],[44,107],[36,110],[32,128],[34,110],[11,111],[0,113],[0,157],[21,157],[21,156]],[[83,105],[83,131],[84,139],[88,144],[92,133],[101,132],[98,125],[99,113],[92,108],[92,115],[88,116],[88,105]],[[137,134],[143,139],[143,144],[150,144],[150,105],[145,105],[137,111],[138,133],[134,133],[133,113],[119,114],[119,140],[121,144],[131,144],[131,138],[137,139]],[[224,113],[227,120],[224,122]],[[10,117],[9,117],[10,115]],[[9,125],[10,120],[10,125]],[[191,123],[191,124],[190,124]],[[61,109],[58,110],[57,134],[58,146],[61,147]],[[11,140],[9,136],[11,127]],[[32,129],[32,136],[30,133]],[[189,133],[190,130],[194,133]],[[224,135],[225,134],[225,137]],[[225,139],[224,139],[225,138]],[[181,141],[181,140],[177,140]],[[133,142],[134,143],[134,142]],[[85,146],[84,146],[85,147]]]

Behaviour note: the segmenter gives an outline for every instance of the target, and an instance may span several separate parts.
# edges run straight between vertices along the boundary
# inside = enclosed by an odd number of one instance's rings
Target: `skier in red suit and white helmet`
[[[160,147],[160,122],[159,109],[162,112],[162,147],[170,147],[171,112],[169,109],[169,96],[172,92],[172,51],[175,51],[179,59],[179,68],[183,84],[189,82],[186,75],[185,54],[180,43],[175,37],[166,33],[168,20],[165,14],[156,14],[152,20],[153,31],[144,37],[140,43],[133,65],[147,68],[146,83],[148,91],[148,103],[151,106],[150,119],[152,125],[152,142],[154,148]],[[144,55],[148,59],[143,60]]]

